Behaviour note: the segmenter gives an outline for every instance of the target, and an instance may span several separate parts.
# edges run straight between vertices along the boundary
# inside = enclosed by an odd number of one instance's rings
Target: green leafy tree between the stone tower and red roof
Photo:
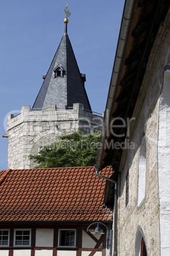
[[[83,135],[81,131],[58,137],[37,155],[30,155],[36,168],[94,166],[100,145],[100,132]]]

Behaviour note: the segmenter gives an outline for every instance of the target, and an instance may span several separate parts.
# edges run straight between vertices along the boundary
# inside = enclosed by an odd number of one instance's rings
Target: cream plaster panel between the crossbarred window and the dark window
[[[53,247],[54,229],[36,229],[36,247]]]

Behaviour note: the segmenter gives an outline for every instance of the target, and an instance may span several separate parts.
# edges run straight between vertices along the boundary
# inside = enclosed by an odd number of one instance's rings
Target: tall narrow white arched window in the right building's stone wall
[[[146,190],[146,172],[147,172],[147,145],[145,132],[141,136],[140,155],[138,162],[138,200],[137,206],[140,207],[145,201]]]

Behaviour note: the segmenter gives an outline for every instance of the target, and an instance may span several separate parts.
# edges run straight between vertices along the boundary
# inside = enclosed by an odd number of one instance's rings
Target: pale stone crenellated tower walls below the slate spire
[[[34,167],[29,155],[55,142],[56,136],[79,130],[84,134],[98,132],[102,122],[102,117],[85,111],[80,103],[67,110],[56,110],[56,105],[49,105],[44,111],[30,111],[30,106],[23,106],[20,115],[8,117],[8,168]]]

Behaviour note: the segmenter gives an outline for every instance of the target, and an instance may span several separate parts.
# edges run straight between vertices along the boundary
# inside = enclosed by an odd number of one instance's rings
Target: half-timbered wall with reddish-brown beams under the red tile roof
[[[0,246],[0,256],[107,256],[106,248],[106,230],[102,230],[105,234],[91,234],[94,229],[89,229],[88,226],[68,227],[68,230],[75,230],[75,246],[60,246],[59,231],[60,229],[67,230],[67,227],[31,227],[31,243],[30,246],[16,246],[14,243],[15,227],[1,227],[10,231],[9,246]],[[18,228],[17,228],[18,229]],[[28,229],[21,227],[20,229]]]

